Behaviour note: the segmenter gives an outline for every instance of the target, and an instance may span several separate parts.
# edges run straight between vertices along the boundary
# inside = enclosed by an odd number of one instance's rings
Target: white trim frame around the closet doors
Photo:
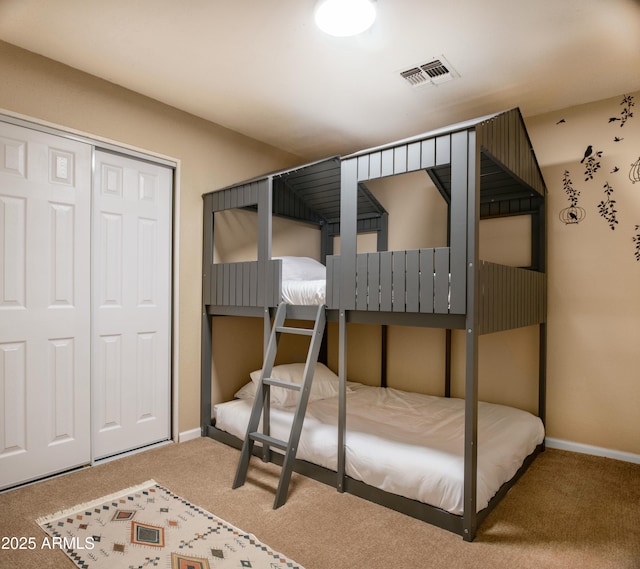
[[[179,386],[180,386],[180,378],[179,378],[179,344],[180,338],[178,336],[179,326],[179,285],[180,285],[180,160],[177,158],[172,158],[170,156],[165,156],[156,152],[152,152],[149,150],[145,150],[142,148],[137,148],[132,145],[128,145],[125,143],[120,143],[117,141],[109,140],[106,138],[99,137],[97,135],[93,135],[90,133],[84,133],[81,131],[77,131],[62,125],[57,125],[53,123],[49,123],[47,121],[43,121],[40,119],[36,119],[33,117],[28,117],[25,115],[21,115],[19,113],[13,113],[6,109],[0,109],[0,121],[6,122],[9,124],[13,124],[16,126],[22,126],[25,128],[30,128],[32,130],[37,130],[40,132],[45,132],[47,134],[52,134],[55,136],[60,136],[62,138],[67,138],[70,140],[75,140],[78,142],[83,142],[85,144],[89,144],[93,146],[93,157],[92,157],[92,165],[91,171],[93,176],[93,170],[95,168],[95,151],[96,150],[105,150],[107,152],[113,152],[116,154],[120,154],[122,156],[126,156],[128,158],[134,158],[137,160],[144,160],[146,162],[151,162],[153,164],[158,164],[161,166],[167,166],[173,170],[173,200],[172,200],[172,229],[171,229],[171,242],[172,242],[172,266],[171,266],[171,328],[170,328],[170,336],[171,336],[171,435],[170,438],[173,442],[179,441]],[[163,444],[162,442],[157,444]],[[130,454],[136,452],[135,450],[129,451]],[[91,464],[95,464],[96,461],[93,456],[93,448],[91,449]]]

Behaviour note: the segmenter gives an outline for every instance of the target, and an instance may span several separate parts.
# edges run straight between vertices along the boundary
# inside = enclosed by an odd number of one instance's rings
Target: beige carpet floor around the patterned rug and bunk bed
[[[238,451],[209,439],[168,445],[0,495],[0,535],[149,478],[256,535],[306,569],[640,569],[640,465],[547,450],[473,543],[294,474],[272,510],[279,469],[253,459],[231,490]],[[71,569],[61,551],[0,549],[0,567]]]

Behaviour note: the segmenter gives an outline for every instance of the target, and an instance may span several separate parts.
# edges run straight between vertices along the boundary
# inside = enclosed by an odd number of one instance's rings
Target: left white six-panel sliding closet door
[[[91,152],[0,122],[0,488],[91,459]]]

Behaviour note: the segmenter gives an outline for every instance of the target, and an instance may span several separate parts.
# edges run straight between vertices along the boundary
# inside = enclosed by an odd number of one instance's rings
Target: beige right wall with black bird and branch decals
[[[634,107],[623,104],[630,95]],[[640,92],[527,120],[549,189],[548,433],[640,454]],[[620,120],[625,109],[635,116]],[[602,152],[593,179],[580,163]],[[635,167],[633,166],[635,165]],[[566,172],[566,174],[565,174]],[[565,180],[580,192],[579,223]],[[611,229],[598,204],[613,188]],[[637,239],[637,237],[636,237]]]

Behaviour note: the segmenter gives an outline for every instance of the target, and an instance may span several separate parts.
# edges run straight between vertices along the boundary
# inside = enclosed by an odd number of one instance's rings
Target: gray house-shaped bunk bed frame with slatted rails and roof
[[[387,212],[366,182],[426,170],[448,206],[448,247],[387,251]],[[271,215],[315,223],[327,265],[327,319],[338,321],[340,377],[338,472],[296,460],[295,469],[339,491],[356,494],[461,535],[479,524],[535,456],[539,445],[489,506],[476,511],[478,338],[539,327],[538,416],[546,399],[546,188],[519,109],[460,123],[343,158],[265,176],[204,196],[202,432],[239,447],[242,441],[211,422],[211,325],[217,315],[262,316],[265,342],[280,302],[281,262],[271,259]],[[339,204],[336,203],[339,201]],[[258,260],[213,262],[214,213],[257,209]],[[322,212],[322,213],[319,213]],[[481,219],[531,216],[530,267],[478,258]],[[378,234],[378,252],[359,254],[359,232]],[[332,237],[340,235],[340,255]],[[446,330],[445,396],[450,396],[451,330],[465,331],[464,512],[451,514],[389,494],[345,474],[347,323],[426,326]],[[383,335],[384,339],[384,335]],[[272,453],[274,461],[279,460]]]

